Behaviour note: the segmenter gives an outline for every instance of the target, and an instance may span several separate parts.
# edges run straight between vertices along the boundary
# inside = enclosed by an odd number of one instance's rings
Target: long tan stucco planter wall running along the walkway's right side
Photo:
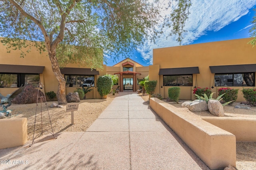
[[[176,108],[157,98],[150,107],[210,169],[236,166],[236,137],[202,120],[188,108]]]

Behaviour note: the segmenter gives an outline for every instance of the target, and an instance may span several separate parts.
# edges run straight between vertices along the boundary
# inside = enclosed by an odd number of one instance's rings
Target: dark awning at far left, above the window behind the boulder
[[[10,65],[0,64],[0,72],[2,73],[43,73],[44,66],[25,66],[25,65]]]

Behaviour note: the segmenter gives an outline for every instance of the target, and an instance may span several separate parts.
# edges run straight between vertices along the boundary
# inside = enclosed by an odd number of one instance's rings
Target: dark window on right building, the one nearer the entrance
[[[193,75],[164,75],[164,86],[193,86]]]

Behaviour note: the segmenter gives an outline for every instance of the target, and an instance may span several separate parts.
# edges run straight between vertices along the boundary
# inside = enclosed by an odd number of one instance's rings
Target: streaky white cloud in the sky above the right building
[[[218,31],[231,22],[239,20],[248,14],[249,9],[254,5],[256,5],[255,0],[192,0],[189,19],[185,25],[187,32],[184,33],[182,45],[192,43],[207,31]],[[166,39],[168,33],[166,29],[155,44],[146,41],[143,47],[137,49],[146,63],[152,64],[152,49],[179,45],[176,36]]]

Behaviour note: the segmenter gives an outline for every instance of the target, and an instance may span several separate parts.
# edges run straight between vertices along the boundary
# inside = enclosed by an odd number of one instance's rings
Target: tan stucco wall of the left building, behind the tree
[[[27,53],[24,58],[20,57],[20,51],[19,50],[11,50],[10,53],[7,53],[6,46],[4,46],[2,43],[0,43],[0,60],[1,64],[12,64],[12,65],[29,65],[29,66],[44,66],[44,71],[42,74],[40,74],[40,80],[44,85],[44,91],[50,92],[54,91],[55,93],[58,90],[58,81],[56,77],[54,76],[54,73],[52,71],[52,64],[50,62],[50,59],[48,57],[48,52],[40,54],[39,51],[36,50],[36,48],[32,48],[30,53]],[[66,67],[71,68],[90,68],[90,67],[84,67],[81,66],[79,63],[69,63],[66,65]],[[106,65],[103,65],[103,69],[98,69],[100,75],[95,75],[94,79],[97,80],[98,76],[102,76],[106,74]],[[63,74],[64,76],[64,74]],[[98,94],[96,90],[96,83],[95,86],[92,87],[92,91],[88,92],[86,94],[87,99],[93,99],[93,98],[100,98],[100,95]],[[69,92],[74,92],[78,87],[66,87],[66,94]],[[7,94],[11,94],[14,90],[18,88],[0,88],[0,93],[3,96],[6,96]]]

